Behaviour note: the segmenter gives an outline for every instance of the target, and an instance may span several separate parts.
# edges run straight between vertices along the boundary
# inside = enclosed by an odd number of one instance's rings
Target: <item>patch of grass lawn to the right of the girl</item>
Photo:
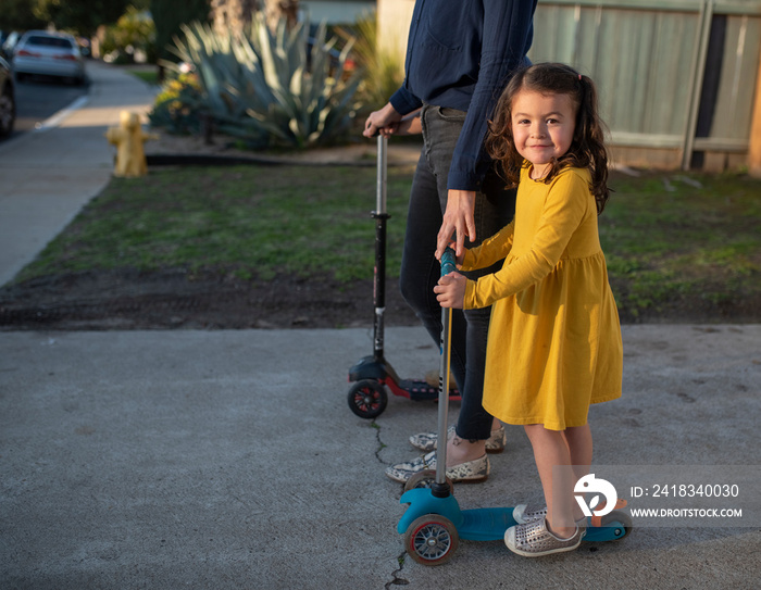
[[[635,317],[665,302],[761,296],[761,181],[747,175],[615,175],[600,240],[616,300]]]

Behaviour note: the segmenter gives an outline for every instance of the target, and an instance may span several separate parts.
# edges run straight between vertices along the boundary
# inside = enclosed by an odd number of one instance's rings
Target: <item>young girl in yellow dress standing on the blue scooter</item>
[[[519,72],[487,148],[509,183],[520,180],[515,218],[458,264],[504,264],[477,281],[451,273],[434,290],[445,307],[494,305],[483,404],[524,425],[547,502],[516,506],[520,524],[504,541],[521,555],[547,555],[582,541],[573,486],[591,463],[589,404],[621,397],[621,327],[597,229],[608,158],[592,81],[562,64]]]

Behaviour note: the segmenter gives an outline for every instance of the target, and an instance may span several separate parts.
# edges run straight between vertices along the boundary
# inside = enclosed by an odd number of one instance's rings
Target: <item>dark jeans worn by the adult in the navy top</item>
[[[407,235],[401,261],[400,287],[406,301],[438,344],[441,334],[441,309],[434,287],[440,276],[439,263],[434,256],[436,237],[447,206],[447,175],[452,152],[465,120],[465,113],[453,109],[425,105],[423,151],[412,181]],[[504,189],[495,171],[489,171],[482,191],[476,193],[475,224],[477,246],[496,234],[512,219],[515,192]],[[499,267],[499,266],[497,266]],[[476,278],[494,272],[487,268],[466,273]],[[462,403],[457,434],[466,440],[485,440],[491,431],[491,416],[483,409],[484,365],[490,307],[454,310],[452,314],[451,371],[460,388]]]

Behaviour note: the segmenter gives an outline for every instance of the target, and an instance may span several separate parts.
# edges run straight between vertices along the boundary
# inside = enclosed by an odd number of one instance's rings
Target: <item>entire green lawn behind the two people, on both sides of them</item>
[[[410,167],[388,172],[397,276]],[[761,301],[761,181],[743,174],[613,173],[600,237],[622,317]],[[153,168],[113,179],[17,277],[133,267],[372,276],[374,167]]]

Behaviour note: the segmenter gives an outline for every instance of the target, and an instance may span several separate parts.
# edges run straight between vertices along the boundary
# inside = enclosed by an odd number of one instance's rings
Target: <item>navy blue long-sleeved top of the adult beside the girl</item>
[[[406,115],[423,103],[467,111],[449,189],[478,190],[487,120],[510,75],[528,64],[537,0],[417,0],[404,84],[390,99]]]

